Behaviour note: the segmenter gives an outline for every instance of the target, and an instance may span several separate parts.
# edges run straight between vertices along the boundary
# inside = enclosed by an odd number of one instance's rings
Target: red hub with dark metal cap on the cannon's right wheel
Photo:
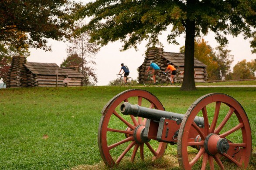
[[[214,133],[211,133],[206,137],[204,146],[205,151],[212,156],[217,153],[227,153],[229,150],[228,140],[221,138]]]

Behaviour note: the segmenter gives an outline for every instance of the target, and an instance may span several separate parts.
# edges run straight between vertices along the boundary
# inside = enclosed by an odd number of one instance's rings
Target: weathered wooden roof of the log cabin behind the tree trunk
[[[184,59],[185,55],[184,53],[169,53],[169,52],[163,52],[162,57],[164,57],[169,62],[173,63],[175,66],[181,66],[184,67]],[[194,66],[195,67],[207,67],[204,63],[199,61],[194,57]]]

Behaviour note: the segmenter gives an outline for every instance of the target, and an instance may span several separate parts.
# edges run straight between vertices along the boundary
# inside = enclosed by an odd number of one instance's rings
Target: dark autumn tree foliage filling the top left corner
[[[68,0],[1,0],[0,43],[51,50],[47,38],[68,38],[77,9],[79,4]]]

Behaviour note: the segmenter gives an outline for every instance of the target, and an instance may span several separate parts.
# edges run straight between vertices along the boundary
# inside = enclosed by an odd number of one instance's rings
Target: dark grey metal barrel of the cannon
[[[120,111],[123,115],[130,114],[135,117],[143,117],[143,118],[156,120],[156,121],[159,121],[160,118],[164,117],[164,118],[176,120],[177,123],[180,123],[181,120],[184,118],[184,114],[167,112],[164,110],[151,109],[147,107],[141,107],[137,104],[136,105],[130,104],[129,102],[124,102],[120,107]],[[199,127],[205,127],[203,117],[196,116],[194,119],[194,122]]]

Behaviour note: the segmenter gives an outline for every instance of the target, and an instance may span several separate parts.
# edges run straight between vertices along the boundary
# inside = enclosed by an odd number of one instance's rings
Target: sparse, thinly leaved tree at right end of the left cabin
[[[81,33],[70,39],[71,45],[67,48],[68,58],[61,64],[62,67],[78,66],[79,72],[85,77],[85,86],[98,82],[93,60],[99,48],[96,43],[89,43],[89,33]]]

